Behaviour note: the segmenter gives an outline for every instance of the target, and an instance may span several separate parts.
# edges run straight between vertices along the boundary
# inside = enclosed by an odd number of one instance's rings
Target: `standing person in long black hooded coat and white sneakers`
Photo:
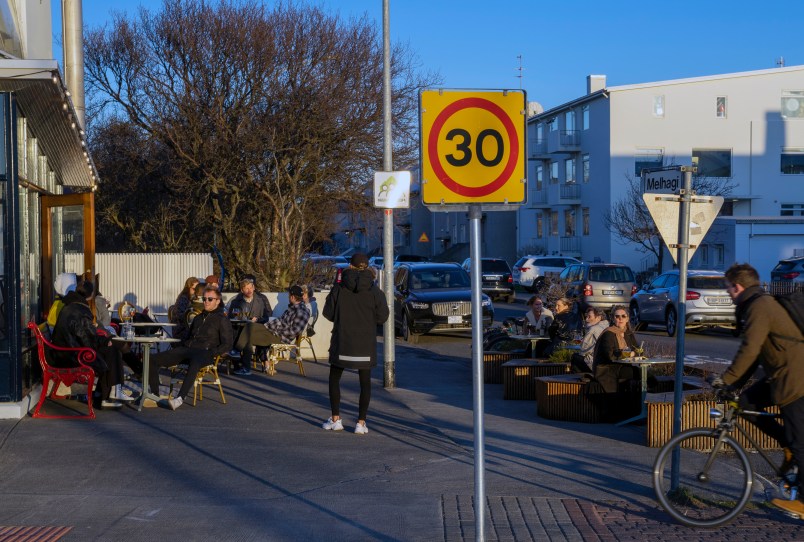
[[[366,414],[371,400],[371,369],[377,366],[377,326],[388,319],[385,294],[374,284],[365,254],[352,256],[349,268],[341,274],[324,303],[324,318],[332,325],[329,347],[329,402],[332,416],[323,424],[330,431],[343,429],[340,416],[341,375],[344,369],[357,369],[360,400],[355,433],[365,435]]]

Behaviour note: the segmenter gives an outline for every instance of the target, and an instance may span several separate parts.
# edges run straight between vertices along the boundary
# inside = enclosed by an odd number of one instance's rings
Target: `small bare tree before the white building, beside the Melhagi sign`
[[[625,179],[625,194],[603,215],[603,224],[618,243],[635,245],[640,252],[654,254],[659,269],[662,269],[662,239],[642,199],[641,179],[629,174]],[[731,193],[732,186],[726,178],[694,175],[692,189],[698,194],[726,196]]]

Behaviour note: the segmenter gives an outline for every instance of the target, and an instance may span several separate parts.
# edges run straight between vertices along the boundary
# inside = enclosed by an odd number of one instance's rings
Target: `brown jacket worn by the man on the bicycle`
[[[784,307],[753,286],[737,298],[737,314],[742,321],[743,342],[723,373],[724,382],[744,383],[759,362],[774,403],[784,406],[804,397],[804,337]]]

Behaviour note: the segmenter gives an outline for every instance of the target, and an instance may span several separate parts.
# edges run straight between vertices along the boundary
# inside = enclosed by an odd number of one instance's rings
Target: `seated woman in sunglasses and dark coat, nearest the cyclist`
[[[634,350],[638,345],[636,336],[628,325],[628,309],[622,305],[615,305],[611,315],[614,323],[606,328],[597,340],[592,369],[595,380],[609,395],[603,408],[609,418],[616,418],[621,407],[627,406],[624,403],[628,395],[629,382],[637,381],[639,375],[634,371],[634,367],[614,361],[634,357],[636,355]]]

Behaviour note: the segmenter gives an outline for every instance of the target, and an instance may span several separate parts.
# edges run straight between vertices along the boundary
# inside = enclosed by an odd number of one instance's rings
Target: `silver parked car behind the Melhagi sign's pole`
[[[648,324],[665,326],[671,337],[678,329],[678,269],[662,273],[642,287],[631,299],[631,324],[644,329]],[[720,271],[687,271],[686,327],[734,329],[734,302],[726,291]]]

